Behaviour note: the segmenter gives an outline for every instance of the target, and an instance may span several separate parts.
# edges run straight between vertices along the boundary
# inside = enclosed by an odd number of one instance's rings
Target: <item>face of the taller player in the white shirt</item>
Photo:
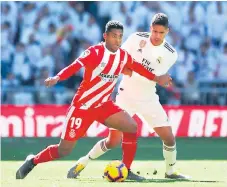
[[[151,29],[151,42],[153,45],[160,45],[169,32],[169,28],[162,25],[152,25]]]

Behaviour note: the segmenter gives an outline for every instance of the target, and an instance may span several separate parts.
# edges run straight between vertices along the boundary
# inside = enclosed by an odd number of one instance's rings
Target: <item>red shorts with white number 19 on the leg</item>
[[[66,115],[61,139],[76,141],[84,136],[87,129],[94,121],[104,124],[105,120],[109,116],[120,111],[122,111],[122,109],[115,105],[112,101],[108,101],[100,107],[87,110],[70,106]]]

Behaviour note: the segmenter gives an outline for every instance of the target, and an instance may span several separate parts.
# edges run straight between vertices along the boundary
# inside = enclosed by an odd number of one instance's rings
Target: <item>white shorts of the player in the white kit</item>
[[[148,125],[151,132],[153,132],[155,127],[170,126],[167,114],[159,102],[158,95],[153,100],[138,101],[128,99],[120,93],[116,98],[116,104],[131,116],[136,113],[142,116],[144,118],[142,120],[145,120],[145,124]]]

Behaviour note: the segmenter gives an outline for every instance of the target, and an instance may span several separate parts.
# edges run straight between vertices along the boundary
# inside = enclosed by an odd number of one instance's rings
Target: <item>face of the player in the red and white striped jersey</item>
[[[121,46],[123,31],[122,29],[111,29],[109,32],[104,33],[103,37],[106,42],[106,47],[111,52],[116,52]]]

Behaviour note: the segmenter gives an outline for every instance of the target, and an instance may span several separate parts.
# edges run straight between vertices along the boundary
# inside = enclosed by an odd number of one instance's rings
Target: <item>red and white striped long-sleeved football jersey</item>
[[[154,74],[134,61],[126,51],[119,48],[115,53],[110,52],[105,43],[89,47],[57,75],[60,80],[65,80],[81,67],[85,68],[84,78],[72,101],[72,104],[80,109],[98,107],[110,100],[110,95],[124,68],[136,71],[150,80],[154,78]]]

